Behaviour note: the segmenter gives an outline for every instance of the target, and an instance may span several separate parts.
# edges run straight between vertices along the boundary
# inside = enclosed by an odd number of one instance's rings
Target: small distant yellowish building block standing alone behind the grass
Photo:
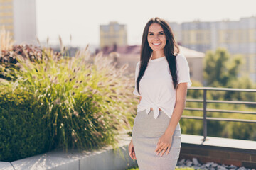
[[[127,45],[127,26],[117,22],[100,25],[100,48]]]

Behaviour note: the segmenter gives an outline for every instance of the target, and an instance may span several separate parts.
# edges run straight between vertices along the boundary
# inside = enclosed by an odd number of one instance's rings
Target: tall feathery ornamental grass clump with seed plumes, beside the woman
[[[45,123],[43,132],[47,137],[42,147],[47,148],[43,151],[98,149],[107,145],[117,148],[117,135],[131,129],[136,113],[137,102],[132,94],[134,80],[127,74],[127,64],[117,68],[109,57],[103,57],[102,53],[90,55],[87,48],[74,57],[65,55],[64,48],[60,53],[45,48],[40,57],[38,52],[35,54],[36,60],[31,60],[26,52],[25,55],[16,53],[18,69],[6,69],[4,75],[12,80],[8,85],[0,81],[0,86],[9,86],[13,93],[17,90],[29,93],[39,102],[34,106],[26,103],[31,108],[26,110],[28,117],[35,113],[35,107],[43,110],[38,120],[26,123],[36,124],[39,120]],[[15,103],[13,106],[15,109]],[[3,107],[0,104],[0,110]],[[8,120],[2,116],[0,121]],[[6,136],[6,131],[0,133]],[[0,142],[9,140],[11,138]]]

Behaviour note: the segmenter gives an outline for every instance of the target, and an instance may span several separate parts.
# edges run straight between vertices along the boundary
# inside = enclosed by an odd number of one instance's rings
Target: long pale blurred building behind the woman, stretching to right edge
[[[241,74],[256,82],[256,17],[239,21],[169,23],[178,44],[198,52],[225,47],[231,55],[242,55]]]

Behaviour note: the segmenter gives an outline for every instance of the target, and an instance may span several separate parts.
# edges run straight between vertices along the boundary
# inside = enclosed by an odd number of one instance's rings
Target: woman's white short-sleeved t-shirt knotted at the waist
[[[178,54],[176,56],[178,84],[187,82],[191,86],[189,76],[189,67],[186,58]],[[153,108],[154,118],[159,115],[161,108],[166,115],[171,118],[176,102],[176,90],[174,89],[169,64],[166,57],[160,57],[154,60],[149,60],[145,73],[139,82],[139,91],[137,91],[136,79],[139,74],[139,65],[137,63],[135,69],[135,89],[134,94],[142,96],[142,100],[137,106],[137,111],[144,111],[148,114],[150,108]]]

